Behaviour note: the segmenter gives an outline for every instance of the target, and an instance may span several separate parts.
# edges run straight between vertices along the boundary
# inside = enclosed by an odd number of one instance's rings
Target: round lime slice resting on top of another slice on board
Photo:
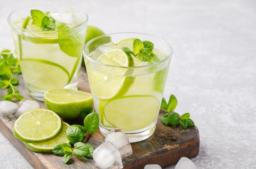
[[[14,122],[13,135],[23,142],[39,143],[56,138],[62,131],[61,118],[51,110],[33,109]]]

